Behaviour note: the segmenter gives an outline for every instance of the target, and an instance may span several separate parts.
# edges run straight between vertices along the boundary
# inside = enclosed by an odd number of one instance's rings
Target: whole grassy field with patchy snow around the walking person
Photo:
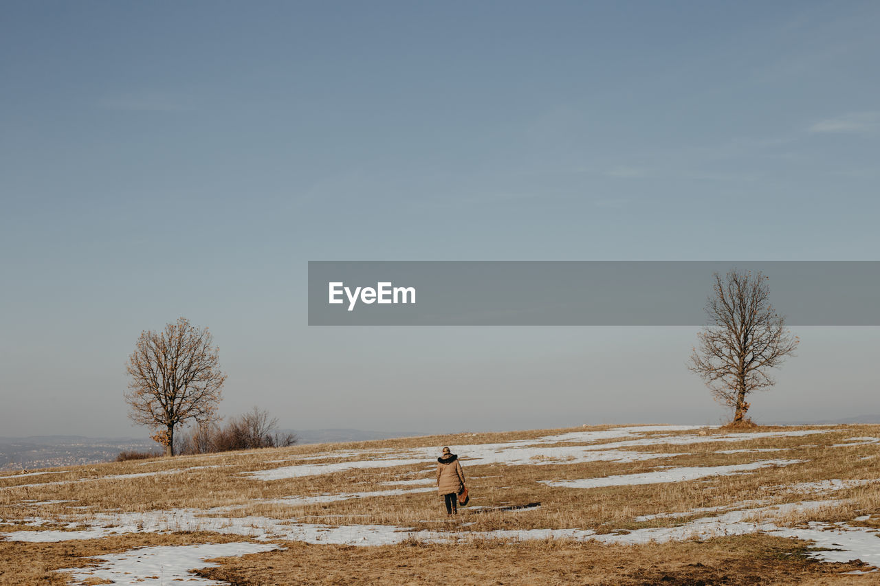
[[[880,583],[878,454],[880,426],[604,426],[12,472],[0,584]]]

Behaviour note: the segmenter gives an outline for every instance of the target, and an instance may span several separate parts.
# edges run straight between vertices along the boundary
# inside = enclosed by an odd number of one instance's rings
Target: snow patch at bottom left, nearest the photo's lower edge
[[[58,572],[70,572],[80,582],[86,580],[110,580],[114,584],[170,584],[186,582],[202,586],[216,586],[217,582],[194,575],[190,570],[216,568],[218,564],[205,560],[228,558],[262,553],[279,549],[273,544],[216,543],[198,546],[153,546],[134,549],[125,553],[109,553],[93,556],[102,562],[93,568],[64,568]]]

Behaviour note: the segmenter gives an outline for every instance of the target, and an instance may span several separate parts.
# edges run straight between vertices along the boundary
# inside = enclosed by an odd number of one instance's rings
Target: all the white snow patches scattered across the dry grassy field
[[[784,436],[809,436],[816,433],[827,433],[826,429],[808,429],[798,431],[780,431],[780,432],[763,432],[763,433],[741,433],[718,436],[699,436],[699,435],[683,435],[683,436],[664,436],[663,432],[688,431],[697,429],[693,426],[644,426],[608,429],[605,431],[584,431],[561,434],[557,436],[544,436],[530,440],[520,440],[508,443],[488,443],[458,446],[456,450],[461,454],[466,465],[484,465],[484,464],[505,464],[505,465],[542,465],[542,464],[560,464],[560,463],[576,463],[587,461],[640,461],[652,458],[671,458],[681,454],[660,454],[639,452],[632,450],[624,450],[624,448],[635,446],[649,446],[656,444],[676,444],[686,445],[689,443],[704,442],[741,442],[759,437],[784,437]],[[640,434],[647,432],[660,432],[656,436],[640,437]],[[560,443],[591,443],[598,441],[606,441],[609,439],[623,438],[621,441],[612,443],[596,443],[588,445],[558,445]],[[847,440],[849,443],[841,443],[840,446],[858,445],[862,443],[876,443],[877,438],[854,437]],[[771,449],[755,450],[768,451]],[[744,450],[725,450],[724,453],[738,453]],[[329,472],[339,472],[342,470],[350,470],[356,468],[385,468],[398,465],[419,465],[425,464],[426,460],[433,462],[436,458],[435,447],[421,447],[408,450],[351,450],[345,453],[327,452],[327,454],[318,454],[307,457],[308,459],[333,459],[333,458],[364,458],[348,462],[332,462],[332,463],[313,463],[283,466],[271,470],[246,472],[253,478],[259,480],[275,480],[282,478],[293,478],[299,476],[309,476],[314,474],[322,474]],[[295,458],[297,461],[306,458]],[[708,476],[726,475],[739,472],[752,472],[759,468],[771,465],[792,465],[802,463],[803,460],[762,460],[744,465],[726,465],[726,466],[701,466],[701,467],[678,467],[658,469],[654,472],[642,474],[627,474],[620,476],[609,476],[599,479],[583,479],[583,480],[546,480],[543,481],[550,486],[564,487],[603,487],[603,486],[620,486],[632,484],[649,484],[656,482],[676,482],[682,480],[695,480]],[[109,479],[127,479],[150,476],[154,474],[171,474],[178,472],[187,472],[205,466],[194,466],[193,468],[146,472],[139,474],[121,474],[113,477],[105,477]],[[430,467],[433,469],[433,466]],[[7,477],[9,478],[9,477]],[[0,479],[2,480],[2,479]],[[71,482],[103,480],[103,479],[82,479],[72,480]],[[780,487],[792,492],[829,492],[840,490],[842,488],[862,486],[875,480],[821,480],[818,482],[801,483],[797,485],[788,485]],[[52,482],[46,484],[65,484],[65,482]],[[722,535],[738,535],[744,533],[752,533],[756,531],[766,531],[779,534],[785,537],[797,537],[812,539],[820,547],[832,547],[841,550],[840,552],[832,552],[830,557],[824,552],[813,552],[820,560],[843,560],[844,558],[856,559],[860,558],[868,563],[875,565],[880,564],[877,556],[880,555],[880,536],[877,531],[869,528],[851,527],[847,524],[817,524],[812,523],[809,527],[786,528],[774,524],[775,517],[787,516],[796,512],[809,512],[826,507],[834,507],[840,505],[840,501],[815,501],[815,502],[796,502],[774,506],[767,506],[766,501],[746,501],[733,503],[726,506],[708,507],[693,509],[692,511],[682,513],[659,513],[654,516],[637,517],[637,520],[649,520],[664,517],[691,516],[701,513],[722,513],[717,516],[702,516],[693,519],[685,524],[676,527],[648,527],[629,532],[615,532],[597,534],[591,530],[512,530],[512,531],[415,531],[413,528],[397,527],[392,525],[342,525],[332,526],[326,524],[302,524],[297,519],[277,519],[267,516],[244,516],[230,517],[228,513],[231,509],[241,509],[254,503],[278,503],[290,504],[294,506],[311,504],[315,502],[332,502],[341,501],[351,498],[370,498],[374,496],[392,496],[398,494],[431,492],[434,487],[418,487],[418,485],[433,485],[432,478],[422,478],[413,480],[396,480],[385,482],[389,486],[401,486],[400,489],[392,489],[386,491],[372,491],[363,493],[347,493],[347,494],[319,494],[314,496],[290,496],[282,499],[264,499],[260,501],[251,501],[244,505],[233,505],[230,507],[217,507],[215,509],[172,509],[165,511],[146,511],[138,513],[124,512],[108,512],[88,515],[69,515],[64,516],[64,521],[69,521],[69,529],[84,527],[76,531],[14,531],[11,533],[0,532],[0,538],[13,541],[63,541],[68,539],[82,538],[99,538],[113,533],[125,532],[162,532],[162,531],[216,531],[225,534],[235,534],[249,536],[260,539],[291,539],[305,541],[313,544],[344,544],[354,546],[375,546],[375,545],[393,545],[398,544],[408,538],[424,539],[429,541],[449,541],[466,538],[517,538],[517,539],[534,539],[534,538],[576,538],[591,539],[602,543],[620,543],[620,544],[640,544],[649,541],[670,541],[686,538],[710,538]],[[40,485],[30,485],[40,486]],[[413,486],[414,488],[407,488]],[[8,488],[8,487],[7,487]],[[756,508],[757,505],[757,508]],[[730,510],[737,507],[746,507],[746,509]],[[751,508],[749,508],[751,507]],[[220,515],[220,516],[216,516]],[[33,524],[39,524],[40,519],[33,517]],[[823,531],[824,530],[824,531]],[[199,546],[187,546],[199,547]],[[266,546],[269,549],[275,546]],[[150,557],[152,553],[150,549],[137,550],[142,552],[140,558],[135,555],[136,552],[130,552],[132,557],[124,558],[128,554],[121,556],[103,556],[105,564],[99,566],[103,568],[107,574],[106,579],[117,579],[113,576],[121,576],[122,579],[135,580],[136,578],[149,578],[149,576],[157,575],[165,581],[180,579],[193,579],[195,576],[188,573],[187,570],[198,567],[205,567],[202,560],[216,557],[216,554],[206,553],[202,551],[204,556],[199,557],[193,553],[192,557],[186,558],[180,564],[176,562],[170,563],[162,561],[164,559],[174,559],[172,550],[168,550],[167,555],[156,554],[156,557]],[[180,548],[176,551],[182,552]],[[193,550],[194,552],[196,550]],[[268,551],[268,550],[260,550]],[[188,554],[187,554],[188,555]],[[165,557],[163,557],[165,556]],[[170,557],[169,557],[170,556]],[[836,556],[836,557],[835,557]],[[186,557],[181,554],[180,559]],[[111,559],[113,558],[113,559]],[[118,558],[118,559],[117,559]],[[141,561],[137,561],[140,559]],[[159,560],[159,561],[156,561]],[[169,577],[169,575],[160,575],[150,569],[147,573],[137,573],[125,575],[123,572],[131,571],[125,568],[125,564],[129,566],[146,562],[148,565],[143,568],[164,567],[167,571],[178,572],[174,574],[177,577]],[[149,566],[150,563],[156,562],[159,566]],[[120,566],[121,564],[121,566]],[[193,565],[195,564],[195,565]],[[172,568],[173,566],[173,568]],[[97,571],[99,568],[89,568],[82,571]],[[169,569],[172,568],[172,569]],[[76,571],[81,571],[77,569]],[[113,574],[117,572],[117,574]],[[150,573],[152,572],[152,573]],[[103,577],[99,574],[84,575],[85,577]],[[181,577],[182,576],[182,577]],[[84,578],[82,578],[84,579]],[[133,583],[133,582],[121,582]],[[150,582],[137,582],[150,583]],[[158,582],[157,582],[158,583]],[[164,582],[163,582],[164,583]],[[197,582],[212,583],[212,582]]]

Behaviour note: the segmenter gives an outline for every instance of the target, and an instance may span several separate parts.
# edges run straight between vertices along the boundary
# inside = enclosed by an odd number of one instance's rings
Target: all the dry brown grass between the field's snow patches
[[[590,430],[604,429],[591,428]],[[635,516],[723,507],[738,502],[797,502],[828,495],[798,493],[787,488],[802,482],[828,479],[880,479],[880,445],[832,447],[854,436],[880,436],[880,426],[822,428],[827,433],[776,438],[749,438],[749,431],[815,428],[759,428],[744,432],[743,441],[712,442],[729,430],[708,431],[706,443],[656,444],[624,448],[631,451],[676,454],[641,462],[550,463],[536,465],[468,465],[466,449],[458,450],[465,467],[472,504],[510,507],[541,502],[537,509],[517,512],[461,510],[448,521],[435,492],[384,498],[351,499],[311,505],[261,502],[291,495],[309,496],[371,492],[391,488],[394,480],[433,478],[435,462],[393,468],[349,469],[304,478],[263,481],[239,472],[285,465],[321,464],[370,459],[371,455],[417,447],[524,441],[583,429],[545,429],[497,434],[426,436],[378,442],[292,446],[290,448],[224,452],[177,458],[65,467],[62,473],[17,478],[0,476],[0,531],[55,528],[28,527],[24,519],[47,519],[72,514],[120,511],[233,507],[223,516],[296,518],[319,524],[387,524],[429,530],[494,531],[502,529],[578,528],[598,532],[631,531],[644,527],[674,526],[692,516],[634,521]],[[739,432],[737,431],[737,434]],[[664,433],[693,435],[693,432]],[[626,439],[626,438],[625,438]],[[611,439],[598,443],[616,443]],[[543,444],[572,445],[572,443]],[[766,452],[722,454],[719,450],[774,449]],[[344,458],[334,457],[350,453]],[[303,459],[315,458],[315,459]],[[688,482],[642,486],[601,487],[589,490],[550,487],[540,480],[575,480],[615,474],[649,472],[657,466],[737,465],[763,459],[799,459],[803,464],[761,469],[755,473],[718,476]],[[285,460],[277,462],[275,460]],[[153,476],[131,476],[164,472]],[[7,475],[9,476],[9,475]],[[118,478],[114,478],[118,477]],[[35,486],[26,486],[26,485]],[[429,485],[416,485],[423,487]],[[851,487],[833,493],[842,502],[807,514],[792,514],[777,523],[810,520],[851,521],[854,516],[880,513],[878,484]],[[46,501],[67,501],[35,504]],[[701,514],[700,516],[705,516]],[[880,518],[880,517],[877,517]],[[867,522],[876,526],[876,521]],[[870,525],[874,523],[874,525]],[[134,546],[238,540],[217,534],[130,534],[82,542],[21,544],[0,541],[0,584],[63,583],[55,568],[87,564],[84,556],[124,551]],[[205,572],[236,584],[259,583],[865,583],[870,577],[840,576],[857,564],[819,564],[805,560],[803,544],[794,540],[750,536],[708,543],[684,542],[664,546],[602,546],[567,541],[532,543],[466,543],[457,546],[409,543],[400,546],[354,548],[286,544],[288,552],[260,553],[228,560],[223,568]],[[36,560],[34,563],[23,563]],[[78,561],[77,561],[78,560]],[[282,579],[283,576],[283,579]],[[438,579],[437,576],[441,576]],[[460,579],[451,580],[450,576]],[[748,582],[752,576],[764,582]],[[758,577],[755,577],[758,576]],[[828,582],[830,583],[830,582]]]

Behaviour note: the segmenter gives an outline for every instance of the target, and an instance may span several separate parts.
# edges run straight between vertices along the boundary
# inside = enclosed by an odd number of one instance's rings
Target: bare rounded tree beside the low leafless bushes
[[[174,455],[174,429],[181,423],[216,419],[226,375],[212,343],[207,327],[180,318],[162,332],[142,332],[128,356],[128,416],[155,430],[152,437],[165,446],[165,456]]]

